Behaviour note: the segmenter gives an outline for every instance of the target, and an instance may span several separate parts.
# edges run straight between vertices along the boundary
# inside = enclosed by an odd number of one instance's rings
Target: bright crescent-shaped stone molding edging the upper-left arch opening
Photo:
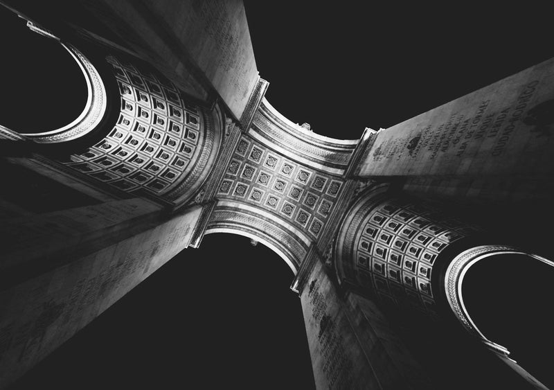
[[[80,51],[70,44],[61,44],[75,59],[87,82],[87,103],[82,113],[73,122],[57,130],[36,133],[21,133],[37,143],[58,143],[78,139],[96,128],[106,112],[107,94],[100,74]]]

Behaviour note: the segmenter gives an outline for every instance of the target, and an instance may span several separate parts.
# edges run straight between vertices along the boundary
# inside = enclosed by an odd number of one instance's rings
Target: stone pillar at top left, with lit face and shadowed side
[[[198,103],[220,100],[236,121],[247,121],[259,77],[242,1],[4,3],[57,36],[139,57]]]

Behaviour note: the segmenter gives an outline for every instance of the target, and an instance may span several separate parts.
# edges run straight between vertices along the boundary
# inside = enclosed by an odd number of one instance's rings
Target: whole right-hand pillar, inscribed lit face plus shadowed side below
[[[418,193],[542,200],[553,165],[554,60],[368,134],[350,173]]]

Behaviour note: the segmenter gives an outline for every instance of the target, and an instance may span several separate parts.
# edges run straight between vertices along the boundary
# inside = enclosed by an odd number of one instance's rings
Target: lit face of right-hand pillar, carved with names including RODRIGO
[[[377,134],[361,176],[549,172],[554,60]]]

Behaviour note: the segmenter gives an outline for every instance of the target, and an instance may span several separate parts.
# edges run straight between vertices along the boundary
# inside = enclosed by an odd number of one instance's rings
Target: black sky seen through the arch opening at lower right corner
[[[529,256],[485,258],[468,269],[462,285],[467,312],[483,335],[554,389],[554,267]]]

